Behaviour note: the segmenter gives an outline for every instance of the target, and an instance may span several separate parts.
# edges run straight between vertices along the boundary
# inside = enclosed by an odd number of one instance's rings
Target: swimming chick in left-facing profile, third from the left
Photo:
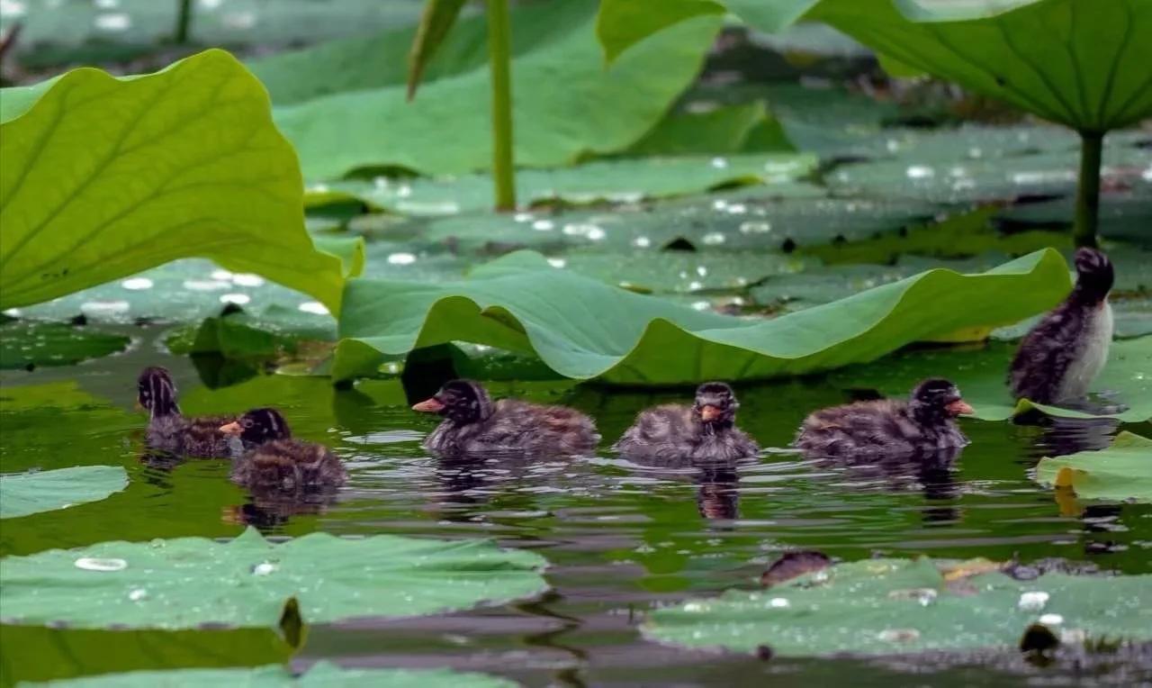
[[[444,422],[424,440],[441,455],[528,452],[571,455],[591,452],[600,440],[596,423],[563,406],[501,399],[471,380],[446,383],[412,410],[439,414]]]

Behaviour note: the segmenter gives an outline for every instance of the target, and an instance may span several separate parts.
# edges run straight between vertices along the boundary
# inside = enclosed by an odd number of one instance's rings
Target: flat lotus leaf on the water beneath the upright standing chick
[[[833,376],[843,387],[872,388],[889,396],[904,398],[919,380],[927,377],[947,377],[956,383],[964,399],[976,409],[975,416],[985,421],[1005,421],[1031,408],[1053,416],[1069,418],[1097,417],[1083,409],[1066,409],[1032,403],[1013,402],[1008,391],[1008,366],[1016,345],[993,342],[979,351],[953,349],[908,351],[878,361],[867,366],[849,368]],[[1112,342],[1108,362],[1092,390],[1106,393],[1107,399],[1128,406],[1119,414],[1101,414],[1129,423],[1152,418],[1152,337]]]

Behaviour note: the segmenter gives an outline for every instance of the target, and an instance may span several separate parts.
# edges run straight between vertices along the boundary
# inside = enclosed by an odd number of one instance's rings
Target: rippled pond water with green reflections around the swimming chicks
[[[141,337],[141,330],[132,334]],[[953,470],[869,471],[818,467],[766,451],[728,466],[639,466],[594,458],[453,463],[419,439],[435,421],[408,410],[399,380],[335,391],[326,379],[260,376],[210,390],[189,358],[161,351],[157,331],[126,354],[79,366],[6,372],[5,471],[75,464],[124,466],[123,492],[75,508],[6,521],[0,553],[25,554],[108,539],[232,537],[245,523],[270,536],[323,530],[419,537],[491,537],[548,559],[543,599],[415,620],[359,620],[310,629],[297,668],[321,658],[346,666],[483,671],[528,686],[852,685],[1076,682],[1089,675],[1131,682],[1147,663],[1078,670],[1033,667],[1011,655],[972,658],[761,661],[692,652],[643,640],[646,610],[690,595],[750,588],[779,553],[820,549],[844,560],[877,554],[939,558],[1049,557],[1127,574],[1152,572],[1152,505],[1069,509],[1029,470],[1045,453],[1105,446],[1117,426],[1053,428],[965,421],[972,439]],[[281,407],[295,433],[332,446],[350,481],[326,505],[253,502],[227,481],[223,461],[175,468],[141,461],[145,418],[131,410],[137,371],[168,366],[185,413]],[[73,387],[75,384],[75,388]],[[432,381],[429,383],[433,384]],[[494,394],[562,402],[596,417],[611,444],[661,393],[494,383]],[[423,391],[420,391],[423,392]],[[810,410],[848,393],[823,378],[743,387],[740,424],[767,447],[790,440]],[[418,393],[414,392],[414,396]],[[1147,425],[1127,426],[1146,433]],[[1074,514],[1074,515],[1066,515]],[[259,638],[247,632],[181,634],[30,630],[8,627],[3,681],[150,665],[250,664]],[[247,643],[247,644],[245,644]],[[17,656],[37,657],[38,666]],[[958,664],[957,664],[958,661]],[[1137,666],[1140,665],[1140,666]],[[947,673],[925,673],[947,666]],[[1140,674],[1152,678],[1152,674]]]

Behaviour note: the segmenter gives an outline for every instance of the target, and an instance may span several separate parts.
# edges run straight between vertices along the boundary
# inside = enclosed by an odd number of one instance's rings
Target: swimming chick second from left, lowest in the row
[[[332,449],[293,439],[288,422],[276,409],[250,410],[222,425],[220,432],[243,443],[243,453],[233,461],[234,483],[253,490],[302,490],[338,487],[348,479]]]

